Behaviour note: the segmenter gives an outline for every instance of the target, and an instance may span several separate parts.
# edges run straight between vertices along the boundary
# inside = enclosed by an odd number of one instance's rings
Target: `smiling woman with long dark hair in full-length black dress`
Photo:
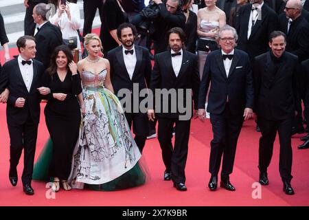
[[[83,106],[78,102],[82,100],[80,76],[69,47],[56,47],[42,83],[51,89],[51,93],[45,96],[48,101],[44,113],[53,143],[52,162],[49,166],[49,175],[54,177],[52,189],[57,192],[61,180],[62,188],[71,190],[67,178],[71,171],[73,149],[78,141],[80,108]]]

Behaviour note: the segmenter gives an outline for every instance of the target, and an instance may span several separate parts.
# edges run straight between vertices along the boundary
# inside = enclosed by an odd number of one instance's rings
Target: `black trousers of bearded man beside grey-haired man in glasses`
[[[158,140],[162,150],[165,170],[172,173],[174,183],[185,183],[185,164],[190,135],[191,120],[159,118]],[[175,124],[175,143],[172,146],[172,132]]]

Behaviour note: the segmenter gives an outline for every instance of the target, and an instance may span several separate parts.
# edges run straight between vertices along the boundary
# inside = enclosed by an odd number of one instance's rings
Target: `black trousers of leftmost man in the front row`
[[[10,134],[10,168],[16,168],[24,149],[23,184],[30,184],[32,180],[34,154],[36,151],[36,137],[38,135],[38,124],[32,121],[30,113],[24,124],[9,124]]]

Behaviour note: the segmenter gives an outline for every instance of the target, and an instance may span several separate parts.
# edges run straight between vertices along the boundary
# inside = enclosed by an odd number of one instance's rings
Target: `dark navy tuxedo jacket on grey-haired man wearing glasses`
[[[198,93],[198,109],[205,109],[209,83],[207,104],[209,113],[217,115],[223,113],[227,100],[233,115],[243,114],[246,107],[253,108],[253,76],[247,53],[234,50],[228,76],[225,73],[221,50],[207,55]]]

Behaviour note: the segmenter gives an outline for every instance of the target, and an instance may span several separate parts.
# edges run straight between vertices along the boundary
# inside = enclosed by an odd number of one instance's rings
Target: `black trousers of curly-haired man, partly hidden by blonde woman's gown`
[[[146,113],[124,113],[128,125],[133,126],[133,133],[135,133],[135,143],[139,147],[139,151],[142,153],[146,138],[148,135],[148,118]]]

